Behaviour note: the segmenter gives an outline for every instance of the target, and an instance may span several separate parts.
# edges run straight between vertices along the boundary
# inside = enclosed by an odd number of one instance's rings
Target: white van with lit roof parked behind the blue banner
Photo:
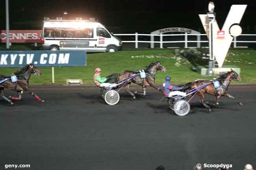
[[[86,50],[115,52],[122,42],[100,23],[90,20],[44,20],[43,50]]]

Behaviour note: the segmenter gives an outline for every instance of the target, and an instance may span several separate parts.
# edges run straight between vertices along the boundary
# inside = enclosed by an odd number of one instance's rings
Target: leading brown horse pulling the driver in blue
[[[237,104],[239,104],[240,106],[243,106],[243,104],[239,101],[237,101],[235,99],[235,97],[233,97],[232,95],[230,95],[228,93],[228,86],[230,85],[230,82],[232,80],[237,80],[237,81],[241,81],[241,77],[236,73],[236,71],[233,71],[231,69],[231,71],[224,73],[223,75],[220,75],[219,77],[217,77],[216,79],[214,79],[214,81],[219,81],[220,83],[220,87],[215,89],[213,84],[210,84],[208,86],[206,86],[205,88],[202,88],[201,90],[199,90],[197,92],[197,95],[200,97],[200,102],[206,107],[208,108],[209,111],[212,111],[210,106],[208,106],[208,104],[206,104],[206,102],[204,102],[204,95],[205,93],[210,94],[210,95],[215,95],[216,96],[216,102],[215,104],[212,104],[213,106],[217,106],[219,105],[219,101],[221,96],[225,96],[228,97],[230,99],[233,99],[237,102]],[[190,82],[187,83],[186,85],[190,85],[190,90],[198,88],[206,83],[211,82],[212,80],[196,80],[195,82]],[[189,97],[191,97],[191,95],[189,95]]]

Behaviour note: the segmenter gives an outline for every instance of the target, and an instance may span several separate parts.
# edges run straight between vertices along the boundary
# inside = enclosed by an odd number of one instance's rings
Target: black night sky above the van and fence
[[[5,29],[2,0],[0,29]],[[256,32],[254,0],[215,0],[220,26],[232,4],[247,4],[242,18],[243,33]],[[41,29],[44,16],[56,19],[68,11],[67,19],[95,17],[113,33],[150,33],[166,27],[202,31],[198,14],[208,12],[207,0],[9,0],[10,29]]]

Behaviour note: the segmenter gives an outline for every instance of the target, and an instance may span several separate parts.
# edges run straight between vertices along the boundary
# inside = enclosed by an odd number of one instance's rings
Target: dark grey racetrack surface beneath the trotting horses
[[[30,164],[22,170],[154,170],[159,165],[165,170],[192,170],[197,163],[232,164],[234,170],[247,163],[255,166],[256,85],[230,87],[242,107],[223,97],[220,106],[209,112],[195,97],[191,113],[184,117],[170,112],[166,100],[158,103],[162,95],[152,88],[147,88],[147,97],[135,100],[121,90],[115,106],[107,105],[93,86],[32,90],[45,103],[28,94],[15,106],[0,100],[1,170],[7,164]],[[210,95],[206,99],[215,100]]]

